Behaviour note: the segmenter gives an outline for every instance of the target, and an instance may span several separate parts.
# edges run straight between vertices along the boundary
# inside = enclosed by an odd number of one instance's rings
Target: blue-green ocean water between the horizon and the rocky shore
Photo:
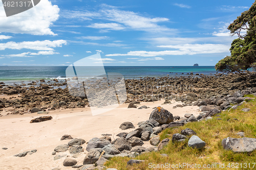
[[[66,78],[67,66],[0,66],[0,81],[5,83],[29,82],[40,79],[51,80]],[[98,67],[79,67],[80,70],[97,72]],[[216,74],[215,66],[104,66],[105,72],[118,72],[124,79],[144,77],[179,77],[195,74]],[[183,73],[183,74],[182,74]],[[86,76],[84,76],[86,77]]]

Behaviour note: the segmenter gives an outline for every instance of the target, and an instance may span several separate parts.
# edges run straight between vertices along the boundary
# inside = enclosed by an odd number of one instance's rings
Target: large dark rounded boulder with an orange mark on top
[[[160,106],[152,111],[149,119],[155,119],[160,125],[174,122],[173,114]]]

